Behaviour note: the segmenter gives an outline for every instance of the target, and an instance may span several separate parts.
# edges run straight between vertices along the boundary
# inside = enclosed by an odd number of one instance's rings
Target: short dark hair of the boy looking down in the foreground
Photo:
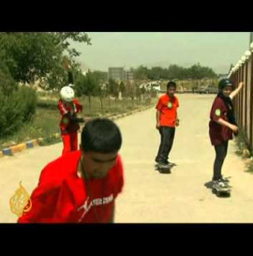
[[[82,129],[82,149],[86,152],[113,153],[122,144],[120,129],[107,118],[88,121]]]

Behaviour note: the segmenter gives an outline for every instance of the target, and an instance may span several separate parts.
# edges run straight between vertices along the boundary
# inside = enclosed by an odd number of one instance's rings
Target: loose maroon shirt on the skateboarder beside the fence
[[[213,145],[218,145],[232,139],[232,130],[216,123],[219,118],[229,122],[227,117],[228,111],[222,98],[216,97],[211,109],[211,120],[209,122],[209,136]]]

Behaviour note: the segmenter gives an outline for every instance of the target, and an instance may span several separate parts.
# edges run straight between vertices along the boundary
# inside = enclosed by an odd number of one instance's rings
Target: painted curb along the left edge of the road
[[[119,118],[128,116],[130,114],[138,113],[138,112],[141,112],[141,111],[145,111],[145,110],[153,108],[153,107],[154,106],[152,105],[152,106],[144,107],[144,108],[141,108],[139,110],[135,110],[135,111],[132,111],[132,112],[129,112],[129,113],[122,113],[122,114],[119,114],[119,115],[107,116],[107,118],[109,118],[112,121],[114,121],[114,120],[117,120]],[[56,137],[56,138],[59,138],[60,137],[60,133],[54,133],[53,136]],[[0,158],[3,158],[5,156],[13,156],[14,154],[16,154],[18,152],[21,152],[21,151],[23,151],[25,149],[30,149],[30,148],[39,146],[39,144],[42,141],[43,141],[43,138],[38,138],[37,140],[31,140],[31,141],[28,141],[28,142],[25,142],[25,143],[20,143],[20,144],[17,144],[17,145],[13,145],[13,146],[4,148],[4,149],[0,150]]]

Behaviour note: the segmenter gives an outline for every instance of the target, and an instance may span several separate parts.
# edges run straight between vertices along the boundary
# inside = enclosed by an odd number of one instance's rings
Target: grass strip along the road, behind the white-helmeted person
[[[82,97],[80,101],[83,105],[82,116],[111,116],[120,113],[128,113],[132,110],[139,109],[144,106],[155,104],[156,98],[152,100],[134,100],[124,98],[115,100],[104,98],[103,110],[100,106],[99,98],[91,98],[91,108],[89,108],[88,98]],[[60,114],[57,108],[57,100],[53,98],[38,99],[37,113],[33,121],[23,124],[15,134],[0,138],[0,150],[10,145],[24,143],[33,139],[43,138],[41,145],[61,142],[61,137],[56,136],[60,133],[59,128]]]

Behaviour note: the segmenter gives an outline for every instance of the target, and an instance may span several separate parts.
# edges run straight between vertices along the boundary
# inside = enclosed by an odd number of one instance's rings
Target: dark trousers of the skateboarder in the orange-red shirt
[[[161,142],[156,156],[157,162],[167,163],[174,141],[175,128],[160,127]]]

